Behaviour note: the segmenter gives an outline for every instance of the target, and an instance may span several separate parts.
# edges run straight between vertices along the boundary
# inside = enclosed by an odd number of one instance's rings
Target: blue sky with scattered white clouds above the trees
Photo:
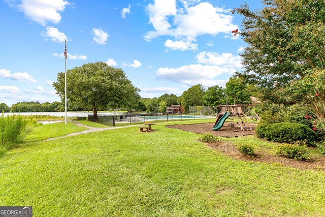
[[[51,86],[94,61],[122,68],[142,97],[224,86],[241,71],[245,43],[232,34],[244,0],[0,0],[0,103],[60,101]],[[251,9],[262,4],[246,1]]]

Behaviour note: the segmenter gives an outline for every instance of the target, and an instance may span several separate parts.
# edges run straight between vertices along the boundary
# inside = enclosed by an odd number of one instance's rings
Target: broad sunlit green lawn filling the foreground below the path
[[[237,161],[165,125],[46,142],[32,131],[0,158],[0,206],[34,216],[324,215],[324,172]]]

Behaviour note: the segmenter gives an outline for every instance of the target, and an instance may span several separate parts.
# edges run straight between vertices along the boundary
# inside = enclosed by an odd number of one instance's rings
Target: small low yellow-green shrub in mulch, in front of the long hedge
[[[306,145],[278,145],[275,149],[275,152],[279,156],[283,156],[289,159],[295,159],[298,161],[305,161],[310,159]]]

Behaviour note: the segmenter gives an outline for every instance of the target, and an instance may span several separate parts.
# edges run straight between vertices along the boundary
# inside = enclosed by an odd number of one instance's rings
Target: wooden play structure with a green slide
[[[224,124],[225,119],[230,119],[228,126],[234,131],[252,131],[246,119],[244,108],[247,105],[222,105],[217,106],[220,109],[217,119],[212,126],[212,130],[220,130]],[[257,114],[256,114],[257,115]],[[234,119],[237,119],[235,122]]]

